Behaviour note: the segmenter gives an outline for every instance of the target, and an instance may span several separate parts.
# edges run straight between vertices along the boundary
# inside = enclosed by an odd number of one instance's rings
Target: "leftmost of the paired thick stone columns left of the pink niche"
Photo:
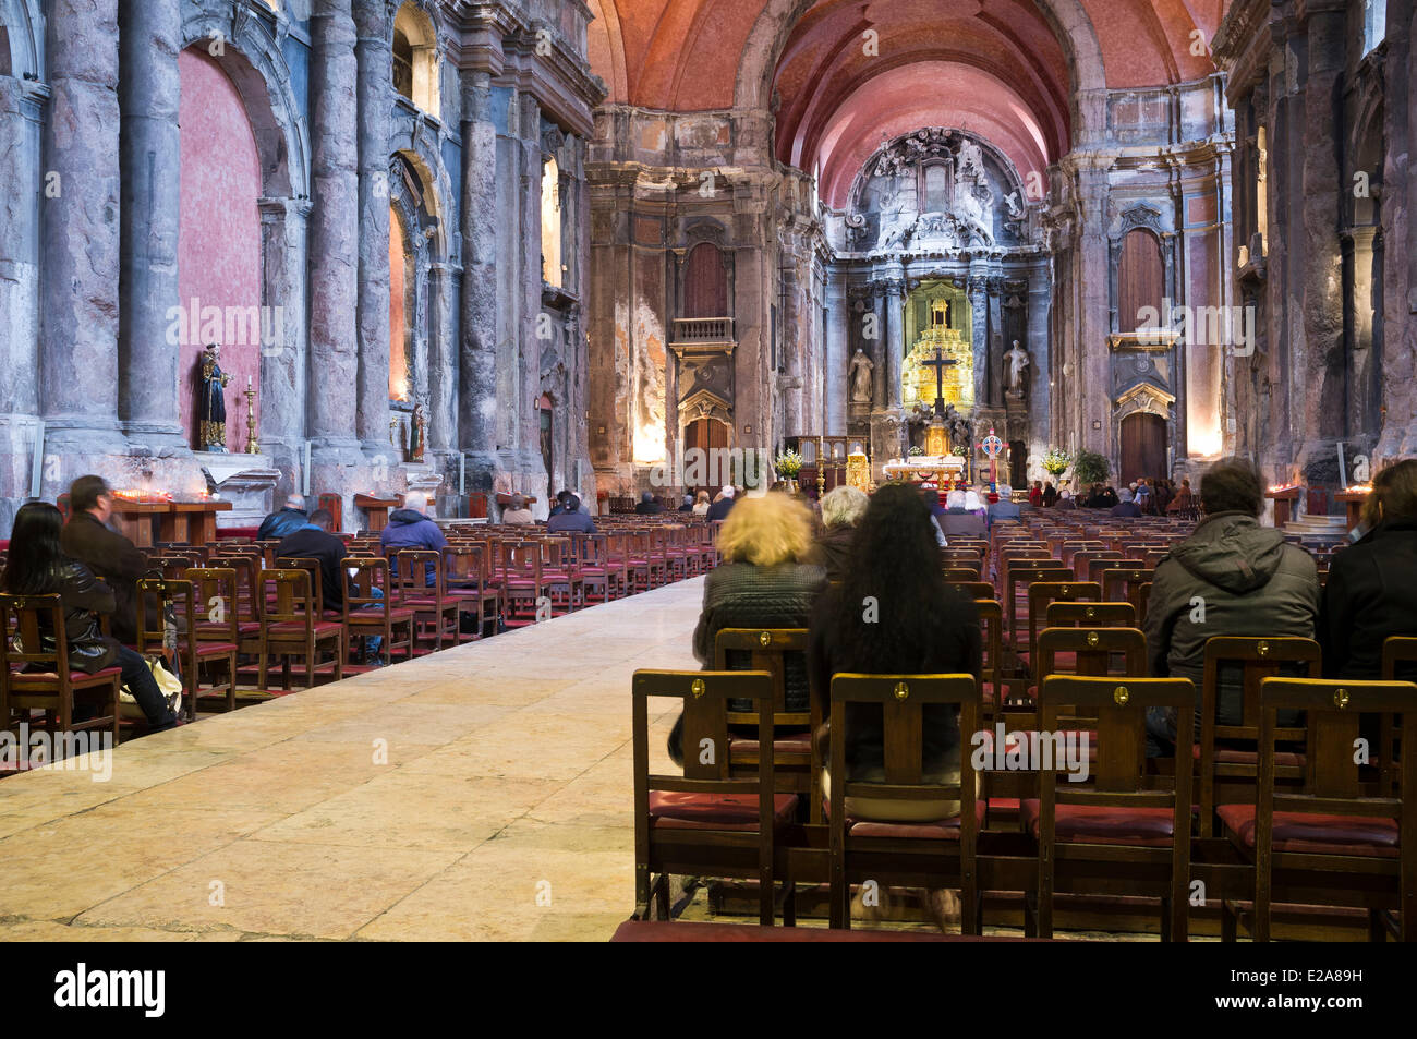
[[[54,0],[48,14],[40,401],[47,454],[75,455],[94,471],[95,456],[128,451],[118,425],[118,0]],[[78,475],[47,481],[44,496]]]

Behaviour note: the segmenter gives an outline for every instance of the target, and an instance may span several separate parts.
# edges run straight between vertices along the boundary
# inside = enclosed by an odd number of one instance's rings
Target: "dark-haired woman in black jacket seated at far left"
[[[147,662],[103,635],[99,628],[98,615],[113,612],[113,590],[94,577],[86,566],[64,554],[60,547],[62,526],[60,510],[48,502],[27,502],[20,506],[10,534],[3,590],[11,595],[57,594],[64,605],[69,668],[85,675],[105,668],[122,668],[123,685],[143,709],[152,731],[171,729],[177,719],[147,669]],[[45,646],[52,648],[54,632],[41,636]]]

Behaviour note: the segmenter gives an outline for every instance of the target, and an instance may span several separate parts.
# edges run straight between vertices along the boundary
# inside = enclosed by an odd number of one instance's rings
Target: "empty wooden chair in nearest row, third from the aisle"
[[[1039,842],[1039,937],[1053,937],[1053,893],[1159,897],[1162,940],[1185,941],[1190,873],[1190,770],[1146,770],[1146,710],[1176,710],[1178,746],[1189,746],[1196,710],[1190,679],[1050,676],[1039,692],[1039,798],[1020,808]],[[1095,730],[1090,787],[1058,782],[1047,738],[1064,726]],[[1071,756],[1070,756],[1071,757]],[[1085,761],[1087,754],[1078,754]]]

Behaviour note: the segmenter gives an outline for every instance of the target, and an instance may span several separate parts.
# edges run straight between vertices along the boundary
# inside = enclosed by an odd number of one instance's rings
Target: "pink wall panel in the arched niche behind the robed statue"
[[[196,437],[198,357],[220,318],[221,367],[227,386],[227,449],[247,447],[247,378],[261,415],[261,322],[241,320],[261,306],[261,160],[251,120],[235,85],[200,47],[177,55],[181,74],[181,227],[177,242],[181,337],[183,429]],[[198,301],[196,305],[193,301]],[[196,309],[194,309],[196,306]],[[211,308],[220,308],[220,315]],[[286,315],[289,318],[289,315]],[[268,322],[276,323],[275,315]],[[259,428],[259,427],[258,427]]]

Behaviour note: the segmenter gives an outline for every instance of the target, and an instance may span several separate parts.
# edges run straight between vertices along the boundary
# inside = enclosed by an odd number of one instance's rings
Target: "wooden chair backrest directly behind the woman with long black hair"
[[[876,704],[881,710],[881,751],[884,780],[862,782],[847,778],[846,707]],[[832,756],[830,821],[833,843],[845,828],[846,798],[869,797],[887,801],[958,799],[961,850],[973,855],[978,819],[975,816],[975,773],[971,754],[959,754],[956,784],[927,782],[924,773],[924,707],[956,707],[959,731],[968,746],[979,731],[979,685],[973,675],[833,675],[832,676]]]

